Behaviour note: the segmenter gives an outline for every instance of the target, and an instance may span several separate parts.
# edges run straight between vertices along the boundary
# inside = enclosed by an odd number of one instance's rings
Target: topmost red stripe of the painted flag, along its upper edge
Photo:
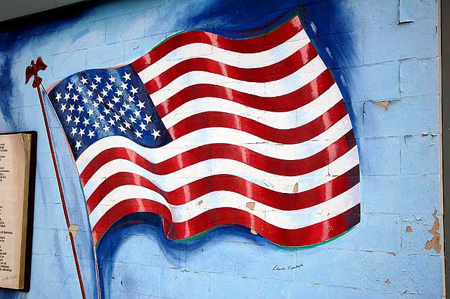
[[[290,20],[290,22],[287,22],[273,32],[251,39],[227,39],[226,37],[204,31],[183,32],[167,39],[167,41],[164,41],[146,55],[143,55],[138,60],[132,62],[131,65],[136,72],[141,72],[143,69],[160,60],[176,48],[194,43],[210,44],[224,50],[238,53],[259,53],[274,48],[279,44],[283,44],[301,30],[302,24],[300,23],[300,19],[296,16]]]

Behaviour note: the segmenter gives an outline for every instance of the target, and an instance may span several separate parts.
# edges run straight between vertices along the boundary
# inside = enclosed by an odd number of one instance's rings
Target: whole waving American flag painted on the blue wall
[[[138,212],[160,215],[169,239],[243,225],[281,246],[359,222],[352,122],[297,16],[250,39],[177,34],[129,65],[72,74],[49,99],[94,245]]]

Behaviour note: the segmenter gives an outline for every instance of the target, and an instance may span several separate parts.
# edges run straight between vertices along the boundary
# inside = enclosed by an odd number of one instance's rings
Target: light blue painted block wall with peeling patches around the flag
[[[31,289],[1,290],[0,298],[81,298],[39,100],[24,84],[30,60],[49,65],[41,72],[49,87],[84,69],[132,61],[182,30],[221,34],[243,20],[255,28],[295,10],[347,93],[361,223],[295,251],[238,228],[176,243],[157,220],[124,225],[98,248],[103,298],[442,298],[435,0],[94,1],[8,24],[0,32],[0,131],[37,130],[39,140]],[[56,116],[49,117],[71,222],[79,225],[86,295],[97,298],[82,188]]]

